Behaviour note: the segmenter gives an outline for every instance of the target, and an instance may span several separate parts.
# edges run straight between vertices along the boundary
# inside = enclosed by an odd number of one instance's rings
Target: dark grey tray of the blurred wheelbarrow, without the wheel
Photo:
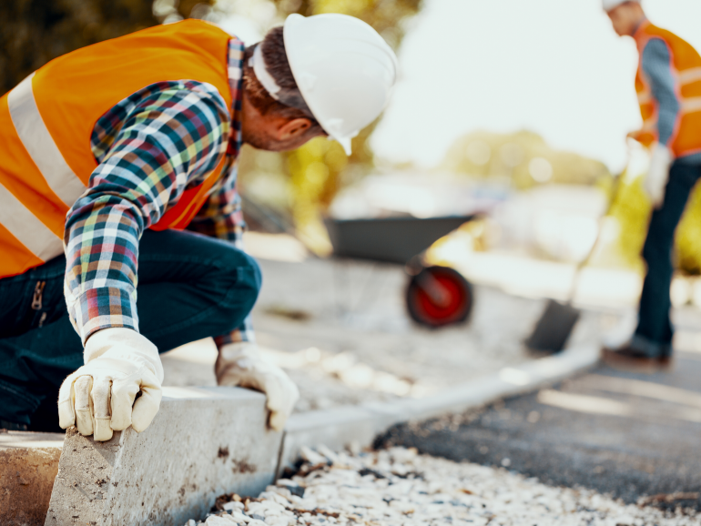
[[[370,259],[404,265],[417,254],[475,217],[379,217],[324,220],[333,253],[340,258]]]

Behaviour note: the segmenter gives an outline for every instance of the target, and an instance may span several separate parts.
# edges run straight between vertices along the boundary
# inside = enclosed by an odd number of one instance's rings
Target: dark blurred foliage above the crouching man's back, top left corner
[[[0,93],[56,56],[156,25],[168,15],[203,18],[214,0],[3,0]],[[168,8],[170,5],[170,9]],[[176,18],[177,19],[177,18]]]

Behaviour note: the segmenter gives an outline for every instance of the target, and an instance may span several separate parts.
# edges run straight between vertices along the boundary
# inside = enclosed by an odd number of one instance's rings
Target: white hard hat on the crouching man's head
[[[387,106],[397,57],[377,31],[349,15],[290,15],[283,37],[304,102],[351,155],[351,138]]]

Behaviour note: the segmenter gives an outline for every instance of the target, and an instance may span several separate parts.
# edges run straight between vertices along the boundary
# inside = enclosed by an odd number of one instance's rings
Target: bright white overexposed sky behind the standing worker
[[[640,125],[635,44],[600,0],[425,0],[400,50],[401,81],[372,146],[381,157],[440,162],[452,141],[527,128],[552,146],[625,164]],[[699,0],[645,0],[656,25],[701,50]]]

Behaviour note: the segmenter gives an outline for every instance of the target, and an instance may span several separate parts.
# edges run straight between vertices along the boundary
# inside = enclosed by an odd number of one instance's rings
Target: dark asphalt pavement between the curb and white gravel
[[[701,510],[701,353],[677,352],[672,369],[653,374],[600,366],[483,410],[398,426],[376,445]]]

